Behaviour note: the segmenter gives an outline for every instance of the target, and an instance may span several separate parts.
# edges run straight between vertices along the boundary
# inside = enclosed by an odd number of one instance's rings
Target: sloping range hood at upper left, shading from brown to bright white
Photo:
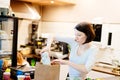
[[[31,3],[11,0],[10,7],[11,7],[11,12],[15,14],[15,16],[18,18],[36,19],[36,20],[41,18],[40,13]]]

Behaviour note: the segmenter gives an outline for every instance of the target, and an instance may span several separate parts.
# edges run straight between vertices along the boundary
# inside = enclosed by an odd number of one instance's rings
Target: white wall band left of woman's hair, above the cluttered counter
[[[42,22],[41,32],[73,35],[75,25],[67,22]]]

